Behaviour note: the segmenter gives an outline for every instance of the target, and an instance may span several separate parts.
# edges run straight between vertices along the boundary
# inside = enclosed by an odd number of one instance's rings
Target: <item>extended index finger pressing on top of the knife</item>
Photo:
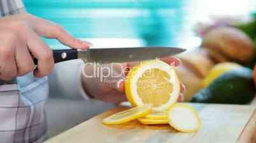
[[[73,47],[75,49],[88,49],[92,46],[90,42],[76,39],[75,37],[70,35],[66,30],[64,30],[64,28],[62,28],[60,25],[52,23],[48,20],[34,18],[34,22],[36,23],[34,30],[37,34],[41,36],[57,39],[62,44],[69,47]]]

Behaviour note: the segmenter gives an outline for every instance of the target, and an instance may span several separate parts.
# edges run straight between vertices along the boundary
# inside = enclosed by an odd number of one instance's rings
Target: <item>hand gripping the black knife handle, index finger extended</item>
[[[73,48],[87,49],[89,42],[75,39],[60,25],[22,13],[0,19],[0,79],[10,79],[34,70],[35,77],[44,77],[53,69],[52,50],[41,36],[57,39]]]

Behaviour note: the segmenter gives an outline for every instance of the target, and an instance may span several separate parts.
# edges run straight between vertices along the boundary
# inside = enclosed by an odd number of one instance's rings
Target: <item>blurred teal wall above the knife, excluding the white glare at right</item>
[[[24,0],[29,13],[60,23],[79,38],[124,37],[146,45],[175,46],[184,21],[183,1]],[[46,40],[55,44],[55,40]]]

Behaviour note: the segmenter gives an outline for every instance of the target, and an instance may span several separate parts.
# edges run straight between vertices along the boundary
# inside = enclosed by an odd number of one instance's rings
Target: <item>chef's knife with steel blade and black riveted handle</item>
[[[122,47],[122,48],[94,48],[86,51],[77,49],[53,50],[55,63],[71,59],[82,59],[85,62],[123,63],[127,61],[145,61],[155,58],[173,56],[186,51],[178,47]],[[38,60],[34,59],[37,65]]]

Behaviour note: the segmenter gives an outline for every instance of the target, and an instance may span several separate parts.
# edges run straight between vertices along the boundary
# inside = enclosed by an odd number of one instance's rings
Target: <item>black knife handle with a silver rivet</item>
[[[71,59],[78,59],[77,49],[57,49],[53,50],[54,63],[61,61],[69,61]],[[34,58],[34,65],[38,65],[38,59]]]

